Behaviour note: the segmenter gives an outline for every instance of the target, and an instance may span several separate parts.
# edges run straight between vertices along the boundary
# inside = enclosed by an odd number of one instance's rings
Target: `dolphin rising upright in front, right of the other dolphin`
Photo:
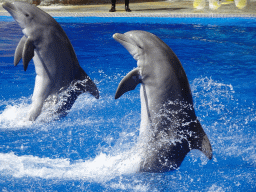
[[[177,169],[192,149],[212,159],[212,147],[193,107],[186,73],[175,53],[146,31],[116,33],[113,38],[137,60],[137,68],[119,83],[115,99],[140,86],[141,124],[136,152],[141,172]]]

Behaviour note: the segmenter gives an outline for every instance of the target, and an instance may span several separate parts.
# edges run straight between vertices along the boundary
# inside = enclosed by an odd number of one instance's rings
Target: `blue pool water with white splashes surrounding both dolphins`
[[[11,17],[0,17],[1,191],[255,191],[255,18],[56,18],[100,99],[82,94],[70,113],[52,121],[44,110],[24,122],[34,88],[34,66],[13,66],[22,37]],[[136,61],[112,35],[145,30],[180,59],[213,159],[191,151],[180,168],[137,173],[127,152],[140,127],[139,87],[115,100],[120,80]]]

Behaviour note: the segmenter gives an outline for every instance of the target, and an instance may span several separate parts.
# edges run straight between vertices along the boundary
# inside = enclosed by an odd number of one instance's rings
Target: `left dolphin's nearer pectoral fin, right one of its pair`
[[[34,49],[33,40],[27,38],[22,52],[24,71],[27,70],[29,61],[34,57]]]

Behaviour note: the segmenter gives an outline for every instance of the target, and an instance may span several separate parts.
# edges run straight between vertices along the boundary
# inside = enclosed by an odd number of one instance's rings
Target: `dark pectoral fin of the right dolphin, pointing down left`
[[[118,99],[127,91],[134,90],[139,83],[141,83],[139,68],[135,68],[119,83],[116,90],[115,99]]]

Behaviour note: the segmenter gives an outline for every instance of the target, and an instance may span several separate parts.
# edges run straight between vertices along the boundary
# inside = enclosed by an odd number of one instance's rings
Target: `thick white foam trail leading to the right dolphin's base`
[[[39,158],[31,155],[17,156],[0,153],[0,174],[43,179],[83,179],[107,182],[123,174],[135,173],[139,168],[139,157],[128,153],[109,156],[99,154],[92,160],[71,163],[69,159]]]

